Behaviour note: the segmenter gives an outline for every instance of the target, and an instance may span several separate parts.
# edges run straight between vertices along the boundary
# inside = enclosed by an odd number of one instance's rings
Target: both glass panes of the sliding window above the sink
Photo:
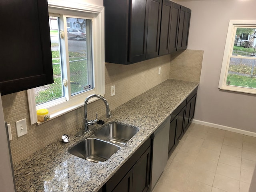
[[[67,27],[70,28],[70,23],[74,23],[72,29],[67,31],[67,42],[65,42],[65,39],[60,39],[59,36],[60,18],[49,17],[54,83],[34,88],[36,105],[94,89],[92,20],[63,17],[63,20],[66,18],[63,22],[66,22]],[[67,44],[68,55],[65,55],[66,52],[63,50],[65,45],[62,44]],[[64,77],[64,74],[68,74],[69,78]],[[64,79],[70,79],[70,84],[65,85],[66,90],[63,85]]]

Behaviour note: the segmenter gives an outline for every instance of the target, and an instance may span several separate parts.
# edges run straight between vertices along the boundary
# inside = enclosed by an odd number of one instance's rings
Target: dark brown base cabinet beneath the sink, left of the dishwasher
[[[148,138],[106,182],[103,192],[146,192],[150,184],[151,139]]]

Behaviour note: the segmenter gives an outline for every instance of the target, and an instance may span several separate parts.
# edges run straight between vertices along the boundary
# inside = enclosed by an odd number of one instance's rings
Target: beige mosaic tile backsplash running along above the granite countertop
[[[106,63],[105,98],[110,110],[168,78],[199,82],[202,55],[203,51],[186,50],[179,54],[161,56],[128,66]],[[158,75],[159,67],[161,67],[160,75]],[[113,85],[116,94],[111,97],[110,90]],[[10,145],[14,163],[60,139],[62,134],[68,134],[82,126],[82,107],[39,126],[30,125],[26,91],[2,96],[2,104],[5,121],[11,124]],[[104,103],[100,100],[88,105],[88,118],[94,118],[96,112],[99,116],[105,114]],[[23,118],[26,118],[28,134],[17,138],[15,122]]]

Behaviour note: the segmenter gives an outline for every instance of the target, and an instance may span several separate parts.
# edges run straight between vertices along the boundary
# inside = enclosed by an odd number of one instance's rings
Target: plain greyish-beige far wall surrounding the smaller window
[[[188,49],[204,50],[195,119],[256,132],[256,95],[218,89],[229,20],[256,20],[255,0],[176,0],[192,10]]]

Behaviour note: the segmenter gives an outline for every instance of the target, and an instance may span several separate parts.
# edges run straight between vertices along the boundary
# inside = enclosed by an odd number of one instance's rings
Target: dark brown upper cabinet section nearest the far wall
[[[190,15],[190,9],[163,0],[159,56],[187,48]]]

